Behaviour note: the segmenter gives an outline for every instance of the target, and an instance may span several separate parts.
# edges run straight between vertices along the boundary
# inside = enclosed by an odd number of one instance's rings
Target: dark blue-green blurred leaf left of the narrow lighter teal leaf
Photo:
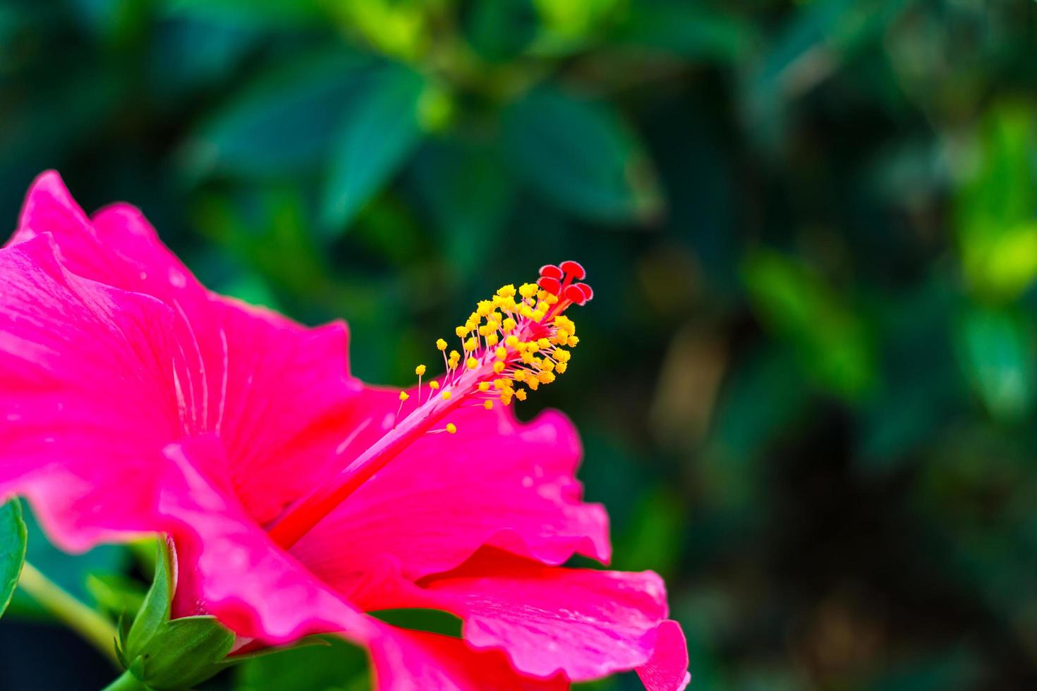
[[[351,104],[363,100],[372,62],[319,52],[261,73],[188,139],[183,165],[193,176],[251,177],[315,168]]]

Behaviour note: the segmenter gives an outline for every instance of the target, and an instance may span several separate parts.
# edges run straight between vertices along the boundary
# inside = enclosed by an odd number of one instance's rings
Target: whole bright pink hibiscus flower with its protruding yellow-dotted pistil
[[[560,566],[610,555],[576,430],[507,406],[567,367],[579,264],[480,303],[460,352],[438,344],[447,375],[409,392],[351,376],[343,323],[207,291],[137,209],[88,218],[53,172],[0,275],[0,498],[73,551],[168,534],[174,616],[215,614],[247,649],[338,633],[380,689],[688,684],[657,575]],[[364,613],[409,607],[463,638]]]

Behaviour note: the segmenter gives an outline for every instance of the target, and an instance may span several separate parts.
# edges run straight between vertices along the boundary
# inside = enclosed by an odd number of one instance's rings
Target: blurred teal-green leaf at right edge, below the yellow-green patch
[[[997,420],[1019,421],[1033,408],[1035,335],[1029,314],[1006,310],[973,309],[958,323],[964,370]]]

